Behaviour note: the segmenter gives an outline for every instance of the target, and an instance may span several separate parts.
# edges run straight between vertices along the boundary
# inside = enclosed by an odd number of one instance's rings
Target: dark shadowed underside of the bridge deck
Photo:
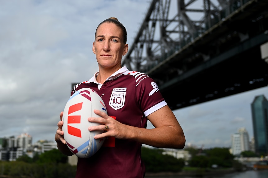
[[[261,59],[259,46],[222,62],[210,60],[188,73],[159,86],[172,110],[257,89],[268,83],[268,64]]]

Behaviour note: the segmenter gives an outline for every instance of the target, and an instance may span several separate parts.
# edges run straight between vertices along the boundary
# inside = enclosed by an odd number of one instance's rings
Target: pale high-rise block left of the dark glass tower
[[[239,155],[242,151],[249,150],[249,137],[246,128],[239,128],[238,133],[232,134],[231,141],[233,155]]]

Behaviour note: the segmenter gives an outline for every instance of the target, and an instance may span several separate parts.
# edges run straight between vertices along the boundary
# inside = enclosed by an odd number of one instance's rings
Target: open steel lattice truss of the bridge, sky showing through
[[[157,65],[167,53],[173,51],[174,46],[177,49],[182,48],[205,32],[210,27],[211,20],[220,18],[218,14],[221,7],[211,1],[191,0],[185,4],[184,0],[152,0],[122,64],[129,69],[146,72],[150,66]],[[198,9],[192,7],[196,2],[200,5]],[[219,2],[224,4],[224,0]],[[188,13],[192,13],[192,17]],[[196,14],[201,14],[198,19],[193,17]],[[210,18],[210,15],[213,15],[213,18]]]

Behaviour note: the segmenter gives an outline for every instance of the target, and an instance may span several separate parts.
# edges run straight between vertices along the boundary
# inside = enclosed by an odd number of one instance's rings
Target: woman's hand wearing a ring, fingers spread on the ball
[[[127,132],[129,132],[128,127],[129,125],[122,124],[106,113],[99,111],[99,110],[94,110],[94,113],[99,115],[100,117],[89,117],[88,121],[89,122],[95,122],[99,123],[101,125],[98,126],[92,126],[89,127],[89,131],[94,131],[94,130],[105,130],[105,126],[109,126],[109,128],[106,130],[106,132],[95,135],[95,139],[99,138],[104,138],[104,137],[115,137],[119,139],[127,139]]]

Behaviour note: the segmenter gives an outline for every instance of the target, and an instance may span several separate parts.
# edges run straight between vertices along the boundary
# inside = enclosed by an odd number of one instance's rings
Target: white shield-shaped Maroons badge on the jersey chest
[[[111,94],[109,105],[114,109],[118,110],[125,105],[127,88],[115,88]]]

